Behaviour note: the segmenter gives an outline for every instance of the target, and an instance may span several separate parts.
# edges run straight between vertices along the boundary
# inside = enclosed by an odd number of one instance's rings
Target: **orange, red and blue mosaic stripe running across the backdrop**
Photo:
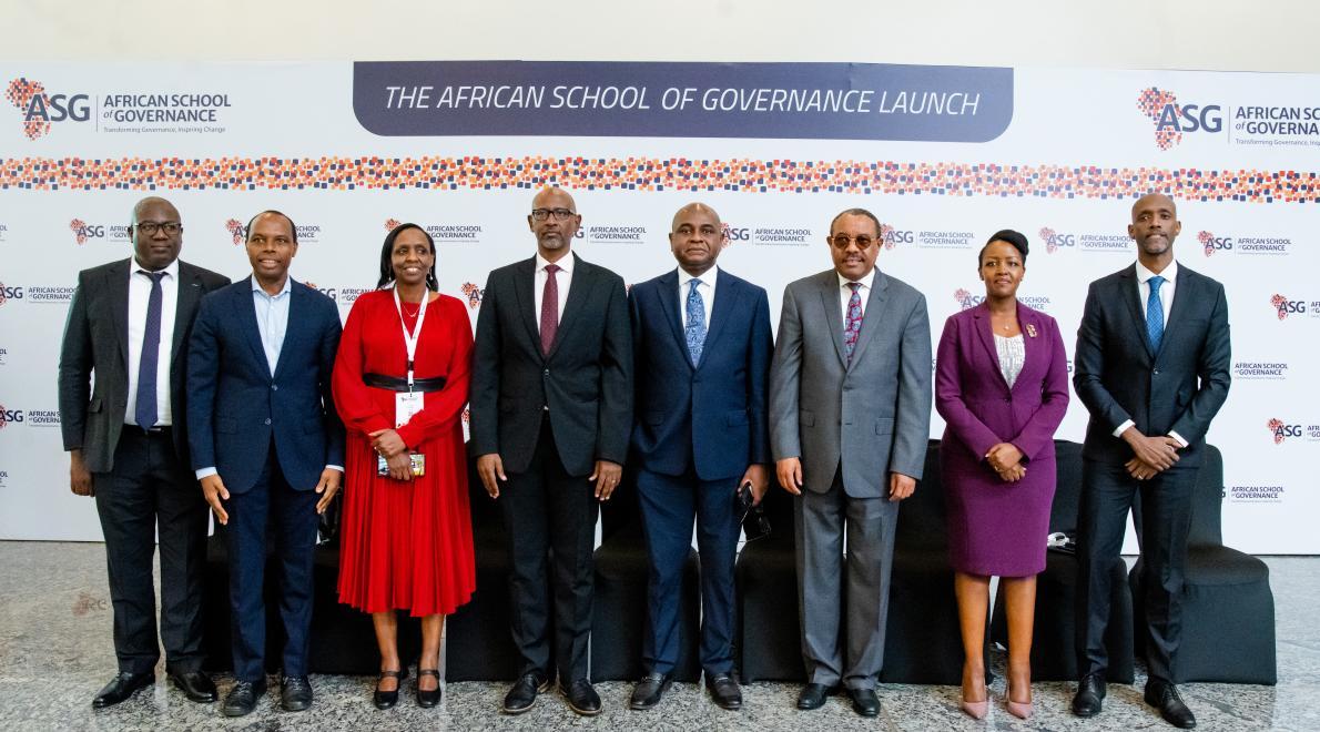
[[[1320,174],[1068,165],[585,157],[8,158],[0,190],[576,190],[1320,202]]]

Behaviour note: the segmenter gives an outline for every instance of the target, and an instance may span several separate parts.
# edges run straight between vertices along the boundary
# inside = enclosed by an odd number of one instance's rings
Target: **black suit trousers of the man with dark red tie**
[[[598,510],[594,492],[590,480],[574,477],[564,467],[546,415],[527,471],[508,472],[499,497],[513,564],[510,599],[513,644],[523,656],[520,675],[533,670],[552,675],[553,619],[561,682],[568,686],[587,678]],[[553,550],[553,566],[548,550]]]

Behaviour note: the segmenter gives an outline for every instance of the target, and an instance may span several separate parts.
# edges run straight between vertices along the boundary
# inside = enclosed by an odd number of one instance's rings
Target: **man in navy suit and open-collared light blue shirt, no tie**
[[[281,703],[286,711],[312,706],[306,657],[317,514],[343,476],[343,425],[330,398],[341,326],[334,301],[289,278],[297,251],[288,216],[257,214],[247,227],[252,276],[202,301],[189,344],[193,468],[226,526],[230,559],[236,683],[224,699],[227,716],[251,712],[265,694],[268,535],[280,561],[288,637]]]

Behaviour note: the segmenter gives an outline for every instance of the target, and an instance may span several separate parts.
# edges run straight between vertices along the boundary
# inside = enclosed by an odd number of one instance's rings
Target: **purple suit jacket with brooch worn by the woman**
[[[1053,456],[1055,430],[1068,412],[1068,355],[1059,323],[1018,303],[1026,359],[1012,388],[999,371],[999,353],[985,303],[950,315],[940,336],[935,408],[944,417],[944,444],[961,444],[974,462],[1011,442],[1030,462]],[[1051,476],[1052,480],[1052,476]]]

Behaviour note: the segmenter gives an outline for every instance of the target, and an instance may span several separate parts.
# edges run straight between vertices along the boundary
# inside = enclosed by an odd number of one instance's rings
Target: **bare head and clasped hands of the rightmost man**
[[[1167,195],[1152,193],[1133,204],[1133,223],[1127,235],[1137,243],[1137,261],[1159,274],[1173,261],[1173,240],[1183,231],[1177,206]],[[1119,435],[1133,448],[1133,459],[1123,467],[1137,480],[1150,480],[1179,460],[1181,444],[1170,435],[1146,435],[1137,426]]]

